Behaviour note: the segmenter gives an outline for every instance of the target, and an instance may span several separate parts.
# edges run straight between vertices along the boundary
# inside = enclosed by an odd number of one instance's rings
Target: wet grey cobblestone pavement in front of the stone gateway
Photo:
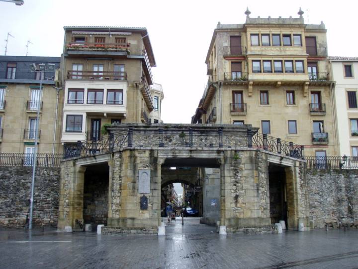
[[[0,268],[358,268],[358,230],[220,236],[180,218],[166,236],[0,230]]]

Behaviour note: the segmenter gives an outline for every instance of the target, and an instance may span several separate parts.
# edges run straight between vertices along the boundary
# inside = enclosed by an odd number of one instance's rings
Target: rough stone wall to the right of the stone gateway
[[[307,169],[306,180],[315,228],[358,225],[357,170]]]

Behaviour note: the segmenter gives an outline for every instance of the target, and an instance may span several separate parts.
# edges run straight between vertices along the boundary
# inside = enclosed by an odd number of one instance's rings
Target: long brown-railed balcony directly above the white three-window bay
[[[127,80],[127,72],[116,71],[67,71],[67,79],[83,80]]]

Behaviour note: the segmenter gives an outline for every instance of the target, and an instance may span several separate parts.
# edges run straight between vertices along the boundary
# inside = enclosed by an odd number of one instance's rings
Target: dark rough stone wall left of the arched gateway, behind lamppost
[[[29,218],[31,167],[1,167],[0,227],[22,228]],[[56,227],[60,168],[36,168],[33,227]]]

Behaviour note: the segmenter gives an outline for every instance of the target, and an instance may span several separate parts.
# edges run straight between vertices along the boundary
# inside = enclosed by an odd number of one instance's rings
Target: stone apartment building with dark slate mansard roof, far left
[[[63,101],[54,88],[59,67],[60,57],[0,56],[1,153],[34,152],[38,110],[38,152],[59,151]]]

